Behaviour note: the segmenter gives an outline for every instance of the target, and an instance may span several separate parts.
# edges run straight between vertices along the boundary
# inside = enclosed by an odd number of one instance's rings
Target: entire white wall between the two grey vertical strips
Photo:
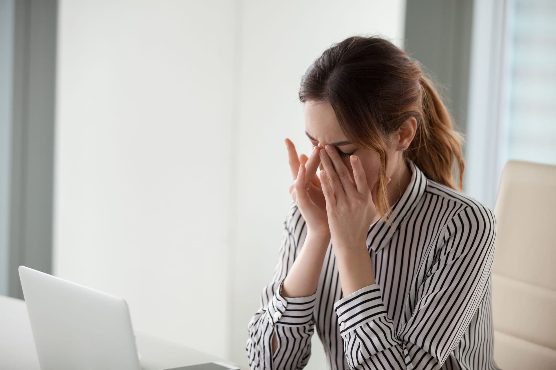
[[[405,1],[61,1],[54,273],[133,325],[247,364],[307,153],[301,75],[334,42],[401,45]],[[307,369],[324,368],[315,333]]]

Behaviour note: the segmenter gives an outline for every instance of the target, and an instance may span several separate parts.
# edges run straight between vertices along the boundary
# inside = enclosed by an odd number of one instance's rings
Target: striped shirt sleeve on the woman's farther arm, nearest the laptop
[[[279,259],[272,282],[262,289],[260,308],[247,325],[246,352],[251,369],[302,369],[311,356],[316,291],[306,297],[284,297],[282,282],[305,241],[306,227],[294,201],[284,221]],[[272,336],[277,348],[272,353]]]

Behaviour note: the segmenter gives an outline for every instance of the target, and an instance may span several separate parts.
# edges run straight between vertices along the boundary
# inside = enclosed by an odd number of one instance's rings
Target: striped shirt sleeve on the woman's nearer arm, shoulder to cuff
[[[492,270],[496,219],[466,206],[441,231],[435,263],[418,287],[413,312],[396,330],[378,284],[334,303],[352,369],[440,369],[469,327]]]

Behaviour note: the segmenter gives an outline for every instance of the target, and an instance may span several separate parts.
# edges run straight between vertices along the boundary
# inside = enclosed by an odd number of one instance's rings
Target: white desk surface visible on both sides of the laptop
[[[234,364],[145,333],[136,332],[135,335],[141,365],[145,369],[169,369],[210,361]],[[0,369],[39,370],[25,301],[5,296],[0,296]]]

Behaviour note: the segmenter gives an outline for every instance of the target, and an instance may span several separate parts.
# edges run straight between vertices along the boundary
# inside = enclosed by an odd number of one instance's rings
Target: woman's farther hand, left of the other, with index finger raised
[[[317,235],[328,235],[328,216],[326,214],[326,199],[322,193],[320,179],[316,175],[319,168],[322,146],[315,146],[310,158],[302,154],[297,156],[294,143],[285,139],[291,174],[294,177],[290,185],[290,195],[295,201],[301,216],[307,224],[307,232]]]

